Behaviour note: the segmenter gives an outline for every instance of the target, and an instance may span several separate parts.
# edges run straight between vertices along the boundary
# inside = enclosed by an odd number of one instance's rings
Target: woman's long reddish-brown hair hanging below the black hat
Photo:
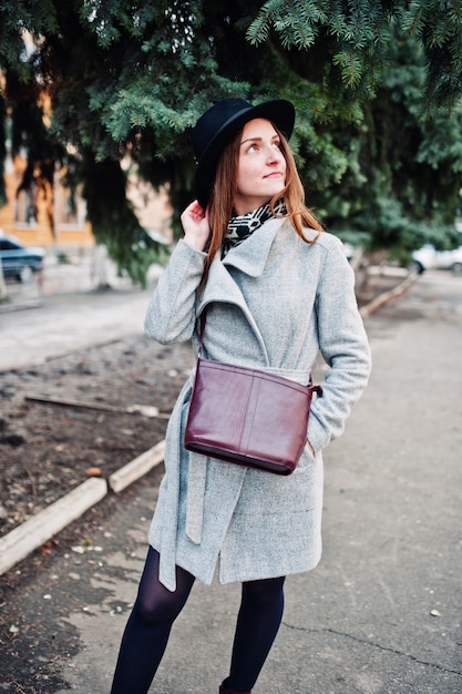
[[[317,221],[315,215],[305,204],[304,186],[301,184],[300,176],[298,175],[297,165],[295,163],[289,143],[276,125],[273,124],[273,126],[280,137],[280,151],[286,160],[287,169],[286,185],[283,191],[277,193],[269,201],[269,207],[274,213],[276,203],[284,197],[287,210],[287,215],[285,216],[290,220],[298,236],[306,243],[315,243],[320,232],[324,231],[322,225]],[[233,214],[234,200],[237,193],[237,172],[239,165],[242,133],[243,129],[240,129],[235,137],[226,144],[216,167],[208,210],[208,221],[211,224],[212,235],[199,288],[204,286],[207,279],[208,268],[222,246],[229,218]],[[304,226],[318,232],[312,241],[305,236]]]

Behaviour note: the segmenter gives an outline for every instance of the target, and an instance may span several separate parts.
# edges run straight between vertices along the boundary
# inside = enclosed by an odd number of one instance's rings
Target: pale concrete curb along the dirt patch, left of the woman
[[[146,474],[164,459],[165,440],[134,458],[109,478],[114,492]],[[107,494],[107,481],[92,477],[71,492],[39,511],[7,535],[0,538],[0,575],[19,563],[54,534],[80,518]]]

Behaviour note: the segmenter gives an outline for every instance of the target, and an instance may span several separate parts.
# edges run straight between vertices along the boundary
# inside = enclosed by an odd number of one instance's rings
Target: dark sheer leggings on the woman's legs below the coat
[[[158,553],[150,548],[138,594],[121,643],[111,694],[146,694],[164,655],[173,622],[183,610],[194,576],[176,568],[176,590],[158,581]],[[243,583],[228,686],[249,692],[279,629],[284,576]]]

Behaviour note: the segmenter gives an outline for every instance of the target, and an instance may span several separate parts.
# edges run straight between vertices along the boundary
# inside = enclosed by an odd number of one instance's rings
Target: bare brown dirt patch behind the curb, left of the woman
[[[162,440],[192,364],[189,345],[135,337],[2,374],[0,535]]]

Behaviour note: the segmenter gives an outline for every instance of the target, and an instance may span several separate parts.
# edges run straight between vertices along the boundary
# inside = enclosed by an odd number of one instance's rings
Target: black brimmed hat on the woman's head
[[[223,99],[206,111],[193,131],[194,154],[197,161],[196,197],[207,206],[215,169],[225,144],[253,119],[271,121],[289,139],[294,130],[295,109],[290,101],[273,99],[256,106],[244,99]]]

